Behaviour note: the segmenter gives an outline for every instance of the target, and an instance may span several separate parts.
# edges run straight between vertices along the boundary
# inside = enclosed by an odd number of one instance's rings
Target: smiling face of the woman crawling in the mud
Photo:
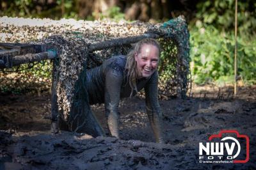
[[[135,54],[135,61],[137,63],[138,77],[150,77],[158,66],[159,49],[150,44],[144,44],[140,52]]]

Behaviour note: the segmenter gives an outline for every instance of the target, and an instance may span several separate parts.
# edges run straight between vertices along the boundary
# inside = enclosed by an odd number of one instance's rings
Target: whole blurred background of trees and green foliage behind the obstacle
[[[162,10],[157,10],[161,7]],[[178,15],[188,20],[191,43],[191,73],[197,84],[234,82],[235,0],[214,1],[104,1],[104,0],[15,0],[2,1],[0,15],[10,17],[50,17],[52,19],[111,18],[163,22]],[[245,84],[256,82],[256,1],[238,1],[238,75]],[[168,55],[161,55],[162,61]],[[163,63],[164,64],[164,63]],[[51,77],[49,63],[44,71]],[[161,67],[160,67],[161,68]],[[163,66],[162,66],[163,68]],[[168,66],[166,66],[168,68]],[[168,69],[166,70],[168,72]]]

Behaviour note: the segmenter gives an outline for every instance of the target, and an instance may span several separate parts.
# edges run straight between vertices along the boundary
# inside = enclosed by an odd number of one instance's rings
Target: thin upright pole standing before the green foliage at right
[[[234,96],[237,94],[237,0],[236,0],[236,17],[235,17],[235,62],[234,62]]]

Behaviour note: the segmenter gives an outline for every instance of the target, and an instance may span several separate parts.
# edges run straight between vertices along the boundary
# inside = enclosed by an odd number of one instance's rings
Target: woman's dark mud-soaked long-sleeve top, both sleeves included
[[[90,104],[105,104],[108,127],[111,135],[118,136],[118,105],[120,98],[130,97],[131,86],[125,71],[126,57],[114,56],[102,65],[86,72],[86,84]],[[158,102],[158,73],[137,79],[138,91],[145,89],[147,114],[156,141],[162,143],[162,114]],[[133,90],[132,96],[136,95]]]

